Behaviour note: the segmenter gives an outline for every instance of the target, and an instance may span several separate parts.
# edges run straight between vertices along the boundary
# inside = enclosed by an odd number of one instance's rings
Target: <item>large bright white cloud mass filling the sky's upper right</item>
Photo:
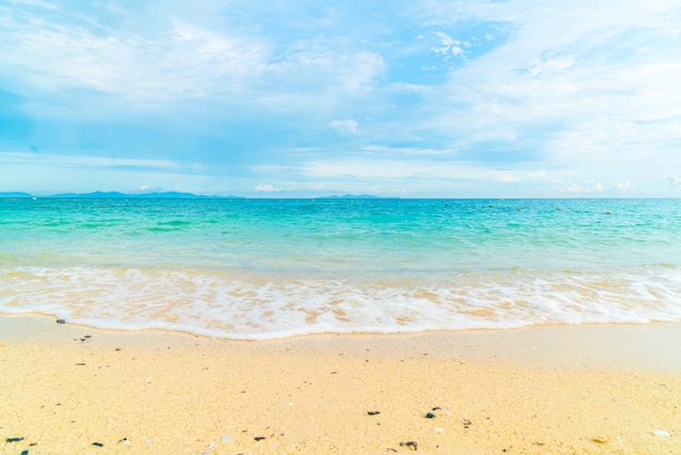
[[[457,150],[487,140],[533,150],[532,159],[560,169],[557,180],[564,182],[614,182],[622,173],[659,174],[681,165],[670,150],[680,138],[681,46],[669,32],[678,27],[680,7],[665,1],[596,7],[577,1],[559,9],[532,1],[429,5],[423,15],[439,27],[467,17],[503,22],[513,33],[491,52],[469,57],[444,87],[433,89],[412,130],[450,137]],[[454,44],[448,35],[441,37],[444,45]],[[492,155],[481,153],[481,160],[492,164]]]

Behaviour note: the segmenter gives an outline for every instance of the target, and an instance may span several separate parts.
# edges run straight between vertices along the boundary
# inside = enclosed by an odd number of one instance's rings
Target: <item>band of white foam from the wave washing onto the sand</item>
[[[109,329],[264,340],[309,333],[681,320],[681,269],[502,270],[409,281],[284,280],[196,270],[0,270],[0,311]]]

